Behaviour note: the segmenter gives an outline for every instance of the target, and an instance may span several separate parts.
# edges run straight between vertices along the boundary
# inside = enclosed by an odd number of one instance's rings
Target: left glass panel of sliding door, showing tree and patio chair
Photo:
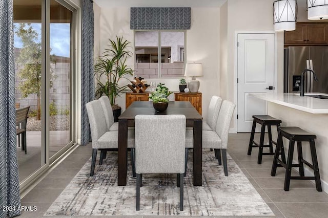
[[[19,181],[22,182],[46,163],[42,146],[44,123],[41,108],[42,82],[42,0],[13,1],[16,112],[29,107],[26,129],[17,135]],[[17,116],[18,117],[18,116]],[[17,130],[19,132],[19,130]],[[26,137],[26,138],[25,138]]]

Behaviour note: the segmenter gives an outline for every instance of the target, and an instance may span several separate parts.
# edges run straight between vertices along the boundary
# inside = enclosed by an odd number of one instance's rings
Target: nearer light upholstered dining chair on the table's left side
[[[92,139],[92,162],[90,176],[94,175],[94,168],[96,164],[97,151],[106,149],[118,148],[118,131],[108,131],[108,126],[105,119],[105,113],[99,100],[93,100],[86,104]],[[133,174],[135,174],[134,167],[134,131],[128,132],[128,148],[131,148],[131,162]],[[100,158],[100,160],[103,160]]]

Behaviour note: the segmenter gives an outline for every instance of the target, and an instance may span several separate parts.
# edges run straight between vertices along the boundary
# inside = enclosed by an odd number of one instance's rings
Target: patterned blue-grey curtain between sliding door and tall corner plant
[[[81,54],[81,144],[91,141],[86,103],[94,99],[93,74],[93,5],[83,0],[82,12],[82,54]]]

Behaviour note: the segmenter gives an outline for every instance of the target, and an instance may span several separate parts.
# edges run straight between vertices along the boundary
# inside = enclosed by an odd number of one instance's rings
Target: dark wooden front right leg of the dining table
[[[194,186],[201,186],[201,160],[202,160],[202,120],[194,121],[194,154],[193,173]]]

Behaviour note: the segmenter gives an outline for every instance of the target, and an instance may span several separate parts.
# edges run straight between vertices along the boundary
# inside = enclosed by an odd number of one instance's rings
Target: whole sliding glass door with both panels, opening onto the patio
[[[19,181],[24,183],[75,143],[77,11],[64,0],[13,3],[16,110],[29,107],[26,140],[17,136]]]

